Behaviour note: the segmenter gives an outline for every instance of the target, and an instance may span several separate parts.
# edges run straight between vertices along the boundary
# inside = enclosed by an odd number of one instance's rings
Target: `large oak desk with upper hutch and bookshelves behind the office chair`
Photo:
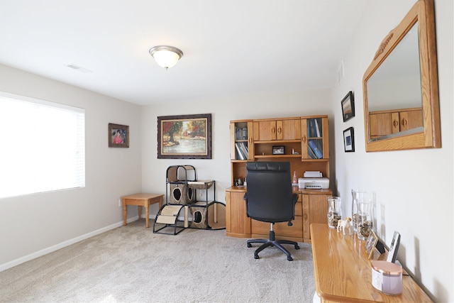
[[[243,199],[248,161],[289,161],[297,178],[319,171],[329,178],[328,116],[236,120],[230,122],[231,187],[226,189],[226,234],[236,238],[266,238],[269,224],[246,216]],[[274,152],[273,152],[274,151]],[[326,223],[330,189],[300,189],[293,226],[275,224],[277,238],[311,242],[311,223]]]

